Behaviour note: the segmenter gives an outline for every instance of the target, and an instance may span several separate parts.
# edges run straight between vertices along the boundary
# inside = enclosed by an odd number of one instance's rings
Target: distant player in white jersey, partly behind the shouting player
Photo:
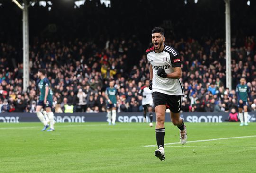
[[[149,113],[150,123],[149,126],[153,126],[153,114],[152,114],[152,106],[153,106],[153,98],[152,98],[152,90],[148,88],[149,86],[149,79],[144,81],[145,86],[142,86],[139,90],[139,95],[142,98],[142,106],[143,106],[143,115],[144,115],[144,122],[146,122],[146,114]]]

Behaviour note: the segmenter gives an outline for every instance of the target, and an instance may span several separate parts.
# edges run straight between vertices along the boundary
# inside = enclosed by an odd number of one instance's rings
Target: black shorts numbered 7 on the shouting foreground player
[[[170,109],[171,112],[174,113],[181,112],[181,99],[181,95],[167,95],[159,92],[153,93],[154,107],[165,105],[168,109]]]

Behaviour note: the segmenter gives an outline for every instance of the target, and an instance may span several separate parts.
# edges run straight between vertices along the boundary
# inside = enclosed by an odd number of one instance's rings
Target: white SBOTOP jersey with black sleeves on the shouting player
[[[179,53],[172,47],[164,44],[164,50],[160,53],[154,51],[154,47],[146,50],[147,60],[153,69],[153,92],[160,92],[168,95],[184,95],[183,87],[179,79],[162,78],[157,75],[158,69],[165,72],[174,72],[175,67],[181,67]]]

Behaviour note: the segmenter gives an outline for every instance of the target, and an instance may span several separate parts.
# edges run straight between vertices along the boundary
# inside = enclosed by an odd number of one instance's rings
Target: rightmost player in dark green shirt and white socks
[[[250,87],[247,86],[245,78],[241,78],[240,84],[238,84],[236,87],[236,93],[238,97],[239,119],[241,121],[240,126],[248,125],[248,98],[250,99],[250,101],[252,101],[250,92]],[[243,117],[243,109],[245,121]]]

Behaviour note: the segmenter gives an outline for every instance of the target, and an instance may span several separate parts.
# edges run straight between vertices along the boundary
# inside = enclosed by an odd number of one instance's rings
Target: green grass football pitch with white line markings
[[[155,124],[154,124],[155,125]],[[0,173],[253,173],[256,123],[186,123],[188,141],[165,145],[155,157],[155,128],[148,123],[63,123],[42,132],[41,123],[0,123]],[[179,130],[165,123],[165,143]]]

